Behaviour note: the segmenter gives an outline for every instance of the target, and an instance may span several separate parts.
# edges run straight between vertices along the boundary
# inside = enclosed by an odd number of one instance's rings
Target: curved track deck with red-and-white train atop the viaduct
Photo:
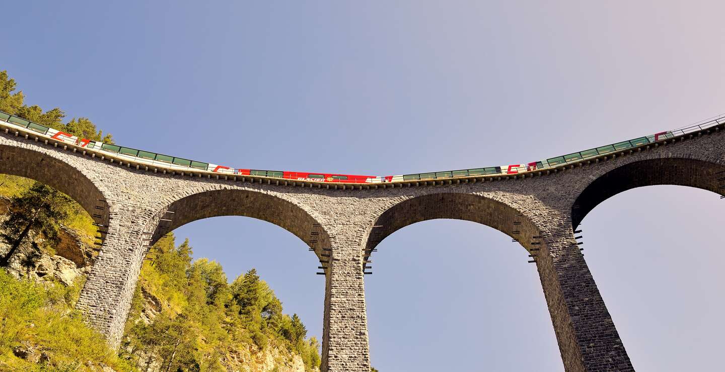
[[[270,171],[262,169],[240,169],[219,164],[211,164],[202,161],[194,161],[177,156],[169,156],[151,151],[138,150],[121,145],[102,143],[99,141],[78,138],[70,133],[61,132],[51,127],[22,119],[12,114],[0,111],[0,130],[6,133],[22,135],[25,138],[33,138],[36,141],[52,143],[55,146],[62,145],[65,149],[73,152],[82,152],[83,155],[90,154],[91,157],[99,157],[101,160],[117,162],[119,165],[131,166],[136,169],[144,169],[149,172],[162,172],[163,174],[181,174],[190,177],[215,177],[216,179],[233,179],[249,182],[266,182],[276,185],[310,185],[310,187],[326,188],[378,188],[396,186],[419,186],[436,185],[440,183],[470,182],[473,179],[484,181],[508,179],[510,177],[527,177],[540,175],[542,172],[548,174],[552,170],[568,164],[580,163],[581,161],[598,161],[599,158],[617,156],[628,151],[638,151],[639,148],[650,145],[667,143],[668,140],[676,140],[683,135],[701,130],[707,130],[725,123],[725,114],[714,119],[708,119],[698,124],[693,124],[679,130],[666,130],[663,132],[633,138],[618,143],[611,143],[597,148],[590,148],[584,151],[568,153],[563,156],[545,158],[539,161],[531,161],[524,164],[506,164],[500,166],[486,166],[475,169],[458,169],[444,172],[426,172],[413,174],[398,174],[394,176],[367,176],[359,174],[336,174],[336,173],[314,173],[314,172],[290,172]],[[716,130],[718,128],[715,128]]]

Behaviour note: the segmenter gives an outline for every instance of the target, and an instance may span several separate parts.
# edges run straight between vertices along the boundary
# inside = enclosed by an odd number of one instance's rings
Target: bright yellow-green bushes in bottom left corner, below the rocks
[[[101,369],[102,363],[117,371],[132,371],[73,310],[82,283],[47,285],[15,279],[0,269],[0,369],[91,371]],[[46,354],[49,361],[31,363],[13,354],[28,345]]]

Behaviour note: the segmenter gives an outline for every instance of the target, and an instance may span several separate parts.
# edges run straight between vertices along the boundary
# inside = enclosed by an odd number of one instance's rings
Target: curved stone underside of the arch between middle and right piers
[[[430,219],[461,219],[478,222],[503,232],[529,249],[539,229],[523,211],[473,193],[433,193],[404,200],[386,209],[373,223],[365,242],[370,252],[393,232]]]

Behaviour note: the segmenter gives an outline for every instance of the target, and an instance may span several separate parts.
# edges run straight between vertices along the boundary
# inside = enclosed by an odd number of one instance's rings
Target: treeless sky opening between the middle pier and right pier
[[[526,250],[471,221],[391,234],[365,277],[370,359],[381,371],[562,371]]]

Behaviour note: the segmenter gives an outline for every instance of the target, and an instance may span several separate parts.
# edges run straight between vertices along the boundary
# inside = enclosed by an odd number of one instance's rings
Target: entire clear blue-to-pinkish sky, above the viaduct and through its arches
[[[6,1],[0,69],[28,103],[90,117],[117,143],[228,166],[512,164],[725,111],[721,1],[107,3]],[[645,187],[583,221],[639,371],[721,365],[724,203]],[[241,217],[176,234],[232,278],[256,267],[319,337],[324,282],[303,242]],[[536,269],[505,235],[426,221],[379,248],[365,278],[376,368],[563,370]]]

